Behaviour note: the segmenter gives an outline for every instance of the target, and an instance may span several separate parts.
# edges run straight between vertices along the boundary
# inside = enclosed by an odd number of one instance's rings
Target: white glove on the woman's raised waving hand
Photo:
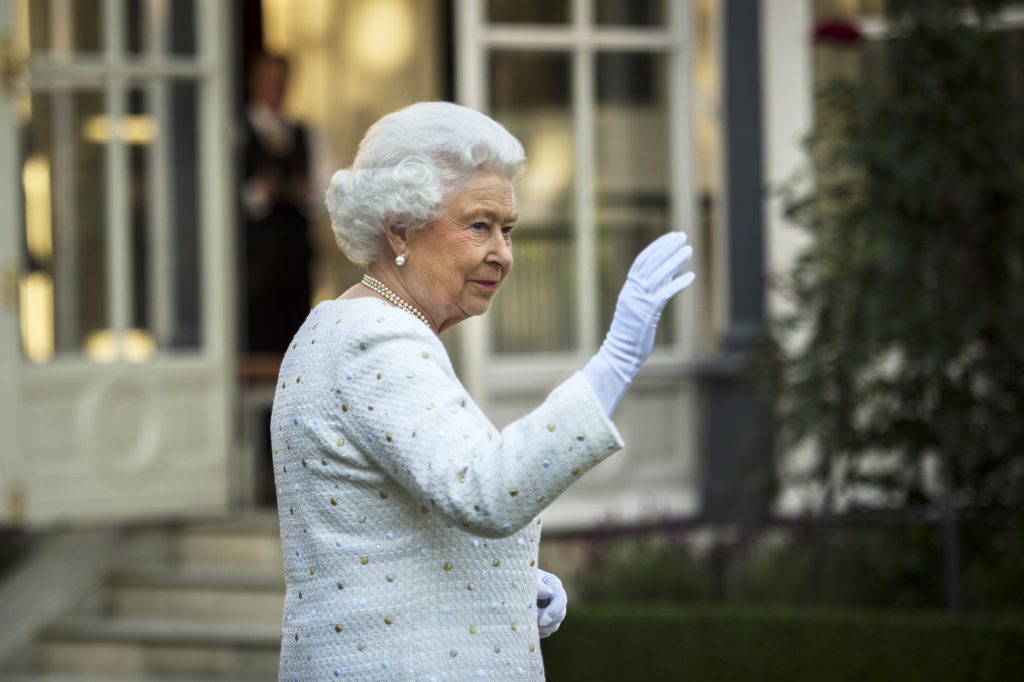
[[[693,247],[686,245],[686,233],[669,232],[654,240],[633,261],[608,335],[583,369],[583,376],[608,417],[653,350],[665,306],[693,282],[692,272],[676,278],[692,256]]]

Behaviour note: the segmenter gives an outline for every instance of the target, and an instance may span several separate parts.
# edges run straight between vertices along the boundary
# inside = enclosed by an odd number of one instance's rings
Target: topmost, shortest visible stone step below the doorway
[[[276,512],[230,522],[181,526],[175,534],[173,555],[188,567],[236,567],[284,574]]]

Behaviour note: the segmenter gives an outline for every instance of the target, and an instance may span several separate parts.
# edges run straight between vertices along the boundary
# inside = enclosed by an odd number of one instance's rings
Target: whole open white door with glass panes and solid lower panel
[[[227,499],[223,3],[0,0],[0,517]]]

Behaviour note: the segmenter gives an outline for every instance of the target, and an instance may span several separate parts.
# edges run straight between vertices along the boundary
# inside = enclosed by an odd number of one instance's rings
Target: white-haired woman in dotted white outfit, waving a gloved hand
[[[597,355],[499,431],[438,335],[486,312],[512,269],[523,163],[492,119],[423,102],[332,179],[338,243],[367,274],[312,310],[274,397],[282,680],[544,679],[539,639],[565,601],[537,565],[539,514],[622,447],[609,416],[693,275],[676,276],[685,236],[654,242]]]

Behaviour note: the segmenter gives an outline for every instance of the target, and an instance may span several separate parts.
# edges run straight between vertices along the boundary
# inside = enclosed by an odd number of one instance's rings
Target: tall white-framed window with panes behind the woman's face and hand
[[[644,246],[687,226],[698,247],[688,13],[666,0],[460,2],[460,101],[528,157],[514,273],[483,330],[499,364],[589,355]],[[690,299],[666,312],[662,357],[694,352]]]

